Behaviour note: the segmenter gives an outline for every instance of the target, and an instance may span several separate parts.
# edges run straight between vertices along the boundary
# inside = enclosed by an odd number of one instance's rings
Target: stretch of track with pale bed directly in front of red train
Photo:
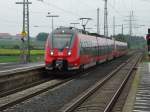
[[[18,104],[26,99],[29,99],[33,96],[36,96],[36,95],[46,92],[50,89],[58,87],[64,83],[67,83],[68,81],[71,81],[71,79],[70,78],[66,79],[66,80],[53,79],[53,80],[47,81],[45,83],[42,83],[40,85],[25,89],[23,91],[19,91],[14,94],[10,94],[5,97],[1,97],[0,98],[0,111],[6,109],[8,107],[11,107],[15,104]]]

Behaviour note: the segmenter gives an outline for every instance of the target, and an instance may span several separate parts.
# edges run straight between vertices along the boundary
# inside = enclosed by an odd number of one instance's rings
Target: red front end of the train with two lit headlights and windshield
[[[45,49],[47,70],[68,71],[79,68],[79,40],[69,28],[57,28],[48,37]]]

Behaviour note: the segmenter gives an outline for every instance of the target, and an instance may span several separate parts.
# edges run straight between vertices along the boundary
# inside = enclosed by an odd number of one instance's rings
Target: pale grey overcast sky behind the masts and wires
[[[22,5],[15,2],[23,0],[0,1],[0,33],[17,34],[22,31]],[[96,9],[100,8],[101,34],[103,34],[104,1],[103,0],[29,0],[30,5],[30,33],[36,36],[39,32],[51,31],[51,19],[47,18],[47,12],[59,15],[55,18],[54,25],[70,26],[71,22],[80,22],[80,17],[90,17],[87,27],[92,32],[96,31]],[[150,0],[108,0],[109,35],[112,35],[113,16],[116,25],[124,24],[124,33],[129,33],[129,14],[134,12],[134,35],[145,35],[150,27]],[[39,27],[34,27],[39,26]],[[81,25],[77,25],[81,28]],[[116,27],[116,34],[121,33],[121,27]]]

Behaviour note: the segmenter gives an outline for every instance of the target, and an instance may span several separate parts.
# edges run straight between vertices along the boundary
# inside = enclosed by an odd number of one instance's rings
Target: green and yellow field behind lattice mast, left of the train
[[[31,62],[44,61],[44,46],[45,41],[31,38]],[[22,42],[20,39],[0,39],[0,63],[21,62],[21,47]]]

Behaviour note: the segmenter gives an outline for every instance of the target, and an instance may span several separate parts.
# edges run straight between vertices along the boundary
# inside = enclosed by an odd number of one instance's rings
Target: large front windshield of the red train
[[[58,48],[59,50],[63,50],[64,48],[70,48],[72,37],[72,34],[53,34],[53,48]]]

